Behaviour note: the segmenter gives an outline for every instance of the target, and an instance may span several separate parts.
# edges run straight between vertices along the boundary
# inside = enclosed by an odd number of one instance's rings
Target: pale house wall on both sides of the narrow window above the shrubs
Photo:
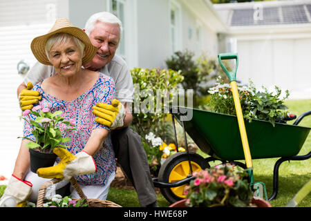
[[[215,56],[218,52],[217,34],[204,25],[194,12],[182,1],[175,0],[181,13],[181,50],[191,50],[200,55],[202,51]],[[138,0],[138,66],[166,68],[165,60],[171,51],[169,0]],[[151,10],[152,8],[152,10]],[[200,44],[196,39],[196,26],[201,26]]]

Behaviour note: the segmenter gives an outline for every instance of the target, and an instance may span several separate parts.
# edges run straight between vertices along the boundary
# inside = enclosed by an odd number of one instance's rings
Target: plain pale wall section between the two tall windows
[[[138,64],[142,68],[164,68],[170,56],[169,1],[138,0]]]

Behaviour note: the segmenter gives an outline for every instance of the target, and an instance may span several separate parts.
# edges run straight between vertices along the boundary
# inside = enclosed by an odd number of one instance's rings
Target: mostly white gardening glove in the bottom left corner
[[[32,189],[31,182],[20,180],[12,174],[0,199],[0,207],[23,207]]]

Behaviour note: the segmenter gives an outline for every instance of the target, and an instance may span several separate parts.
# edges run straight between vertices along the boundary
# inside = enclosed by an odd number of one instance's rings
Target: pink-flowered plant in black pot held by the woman
[[[66,148],[64,143],[70,141],[70,137],[62,137],[62,131],[59,128],[64,124],[66,126],[64,132],[75,130],[75,122],[71,119],[66,122],[61,115],[62,111],[51,113],[49,108],[41,108],[39,105],[33,107],[31,111],[23,111],[21,118],[30,125],[35,140],[29,137],[18,138],[30,140],[26,146],[30,152],[30,170],[34,173],[37,173],[37,169],[41,167],[53,166],[57,157],[53,149],[55,147]]]

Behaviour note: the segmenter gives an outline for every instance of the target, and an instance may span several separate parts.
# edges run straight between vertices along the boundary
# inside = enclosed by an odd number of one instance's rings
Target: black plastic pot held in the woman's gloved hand
[[[44,153],[29,149],[30,153],[30,171],[37,173],[37,169],[53,166],[57,155],[55,153]]]

